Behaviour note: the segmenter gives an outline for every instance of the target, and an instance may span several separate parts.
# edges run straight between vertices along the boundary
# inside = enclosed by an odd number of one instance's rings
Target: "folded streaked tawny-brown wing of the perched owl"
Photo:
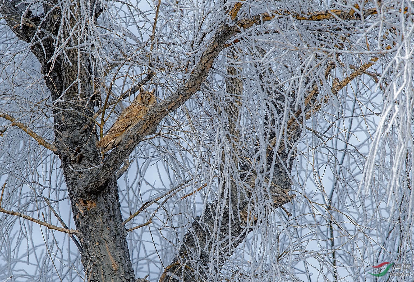
[[[111,150],[117,146],[125,136],[125,133],[138,123],[140,117],[144,114],[143,105],[129,105],[123,110],[112,125],[112,127],[106,132],[105,136],[96,144],[96,147],[102,148],[103,152]]]

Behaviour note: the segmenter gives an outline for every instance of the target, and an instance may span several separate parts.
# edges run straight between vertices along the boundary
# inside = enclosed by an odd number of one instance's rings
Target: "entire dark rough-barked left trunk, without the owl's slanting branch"
[[[44,19],[41,27],[47,31],[37,31],[33,27],[23,25],[23,29],[13,28],[20,21],[27,4],[15,7],[18,1],[2,2],[0,12],[7,15],[7,24],[19,39],[30,43],[35,34],[43,38],[41,43],[31,46],[32,52],[41,63],[41,72],[45,75],[46,86],[51,91],[54,113],[55,142],[66,179],[67,190],[71,201],[73,218],[79,230],[79,241],[82,246],[82,263],[87,274],[87,281],[93,282],[135,282],[128,244],[127,232],[121,225],[123,222],[118,196],[118,185],[115,174],[109,175],[96,193],[84,191],[79,186],[81,172],[101,164],[100,153],[96,149],[97,135],[94,125],[85,126],[94,115],[93,86],[86,55],[78,53],[77,48],[65,48],[65,55],[54,59],[58,36],[60,15],[58,10],[51,11]],[[79,3],[71,6],[73,17],[71,25],[75,26],[79,17]],[[47,6],[45,10],[47,11]],[[40,18],[32,18],[36,25]],[[63,29],[64,38],[68,38],[65,47],[75,47],[82,41]],[[53,35],[53,36],[51,36]],[[76,42],[76,39],[79,40]],[[52,58],[52,60],[51,60]]]

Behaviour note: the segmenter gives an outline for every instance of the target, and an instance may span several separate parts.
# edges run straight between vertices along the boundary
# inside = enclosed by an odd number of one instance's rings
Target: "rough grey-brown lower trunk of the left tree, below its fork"
[[[127,232],[121,226],[116,180],[112,177],[99,194],[89,194],[80,200],[70,197],[89,281],[135,281]]]

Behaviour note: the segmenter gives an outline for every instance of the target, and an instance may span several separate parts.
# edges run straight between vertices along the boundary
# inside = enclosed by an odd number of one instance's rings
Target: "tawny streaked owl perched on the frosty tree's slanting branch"
[[[102,152],[106,152],[118,146],[128,130],[130,130],[140,119],[156,105],[154,91],[141,91],[119,115],[116,122],[106,132],[105,136],[96,144]]]

